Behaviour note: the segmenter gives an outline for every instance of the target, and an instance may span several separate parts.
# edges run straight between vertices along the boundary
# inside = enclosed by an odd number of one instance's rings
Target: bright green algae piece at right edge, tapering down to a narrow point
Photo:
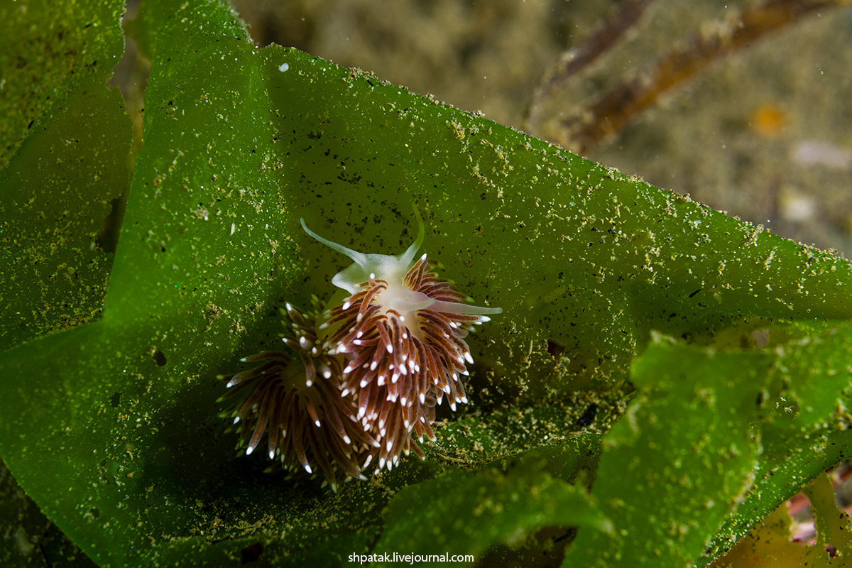
[[[771,348],[761,397],[763,454],[744,501],[713,537],[705,565],[809,480],[852,458],[852,325],[839,324]]]

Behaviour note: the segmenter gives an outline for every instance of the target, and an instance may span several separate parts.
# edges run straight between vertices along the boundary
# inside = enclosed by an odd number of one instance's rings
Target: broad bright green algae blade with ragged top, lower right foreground
[[[617,537],[581,529],[563,565],[688,566],[751,486],[751,431],[769,356],[658,337],[631,374],[640,393],[604,441],[592,495]],[[763,367],[763,369],[762,369]]]

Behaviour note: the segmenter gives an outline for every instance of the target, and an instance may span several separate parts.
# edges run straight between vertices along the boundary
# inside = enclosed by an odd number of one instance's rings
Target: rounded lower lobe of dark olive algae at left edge
[[[124,101],[101,85],[55,106],[0,171],[0,350],[101,313],[112,255],[97,235],[129,155]]]

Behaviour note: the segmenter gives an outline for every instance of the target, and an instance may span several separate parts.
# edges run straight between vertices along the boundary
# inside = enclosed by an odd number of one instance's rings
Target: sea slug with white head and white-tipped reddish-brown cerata
[[[283,342],[292,353],[243,359],[260,365],[225,378],[227,398],[242,394],[227,416],[239,424],[245,453],[266,438],[270,458],[291,472],[322,471],[333,489],[392,469],[423,436],[435,441],[435,405],[466,403],[461,376],[473,359],[464,338],[498,307],[478,307],[417,256],[423,219],[400,255],[364,254],[311,237],[352,259],[331,278],[341,289],[324,309],[304,313],[287,304]],[[296,361],[295,359],[298,359]],[[417,441],[415,440],[417,439]]]

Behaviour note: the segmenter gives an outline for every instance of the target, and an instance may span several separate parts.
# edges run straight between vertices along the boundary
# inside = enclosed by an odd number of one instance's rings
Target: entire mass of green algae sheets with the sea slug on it
[[[0,6],[0,560],[847,561],[849,261],[227,3],[123,9]]]

